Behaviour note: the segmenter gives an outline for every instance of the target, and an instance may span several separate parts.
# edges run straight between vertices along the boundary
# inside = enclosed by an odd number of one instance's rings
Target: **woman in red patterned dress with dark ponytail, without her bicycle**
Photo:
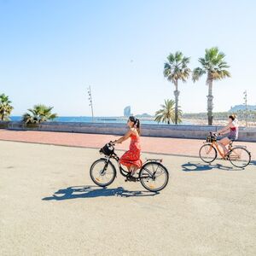
[[[135,117],[131,116],[128,121],[127,125],[129,126],[129,131],[125,133],[123,137],[120,137],[118,140],[114,141],[113,143],[122,143],[131,137],[130,149],[125,152],[120,158],[120,163],[123,166],[126,166],[128,171],[133,174],[142,166],[142,160],[140,159],[141,156],[141,145],[140,145],[140,121]]]

